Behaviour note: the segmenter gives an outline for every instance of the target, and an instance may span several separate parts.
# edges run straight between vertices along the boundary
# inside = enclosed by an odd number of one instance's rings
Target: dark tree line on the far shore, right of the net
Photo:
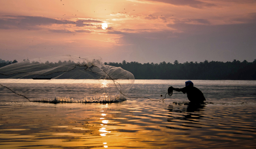
[[[256,80],[256,59],[253,62],[219,62],[205,60],[204,62],[179,63],[105,63],[105,65],[122,67],[132,74],[135,79],[163,80]]]

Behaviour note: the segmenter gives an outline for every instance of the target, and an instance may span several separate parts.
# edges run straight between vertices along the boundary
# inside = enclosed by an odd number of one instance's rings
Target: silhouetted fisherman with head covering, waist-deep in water
[[[185,85],[186,86],[182,89],[173,88],[171,86],[168,88],[168,93],[171,93],[172,90],[183,92],[183,94],[187,93],[187,97],[190,101],[189,104],[204,104],[204,94],[198,88],[194,87],[194,83],[192,83],[192,81],[186,81]]]

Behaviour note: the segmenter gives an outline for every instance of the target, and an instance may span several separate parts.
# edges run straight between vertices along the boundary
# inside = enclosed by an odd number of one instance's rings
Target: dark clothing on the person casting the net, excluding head
[[[183,94],[187,93],[187,97],[191,103],[204,103],[205,97],[204,94],[194,86],[186,86],[182,89],[172,88],[177,92],[183,92]]]

